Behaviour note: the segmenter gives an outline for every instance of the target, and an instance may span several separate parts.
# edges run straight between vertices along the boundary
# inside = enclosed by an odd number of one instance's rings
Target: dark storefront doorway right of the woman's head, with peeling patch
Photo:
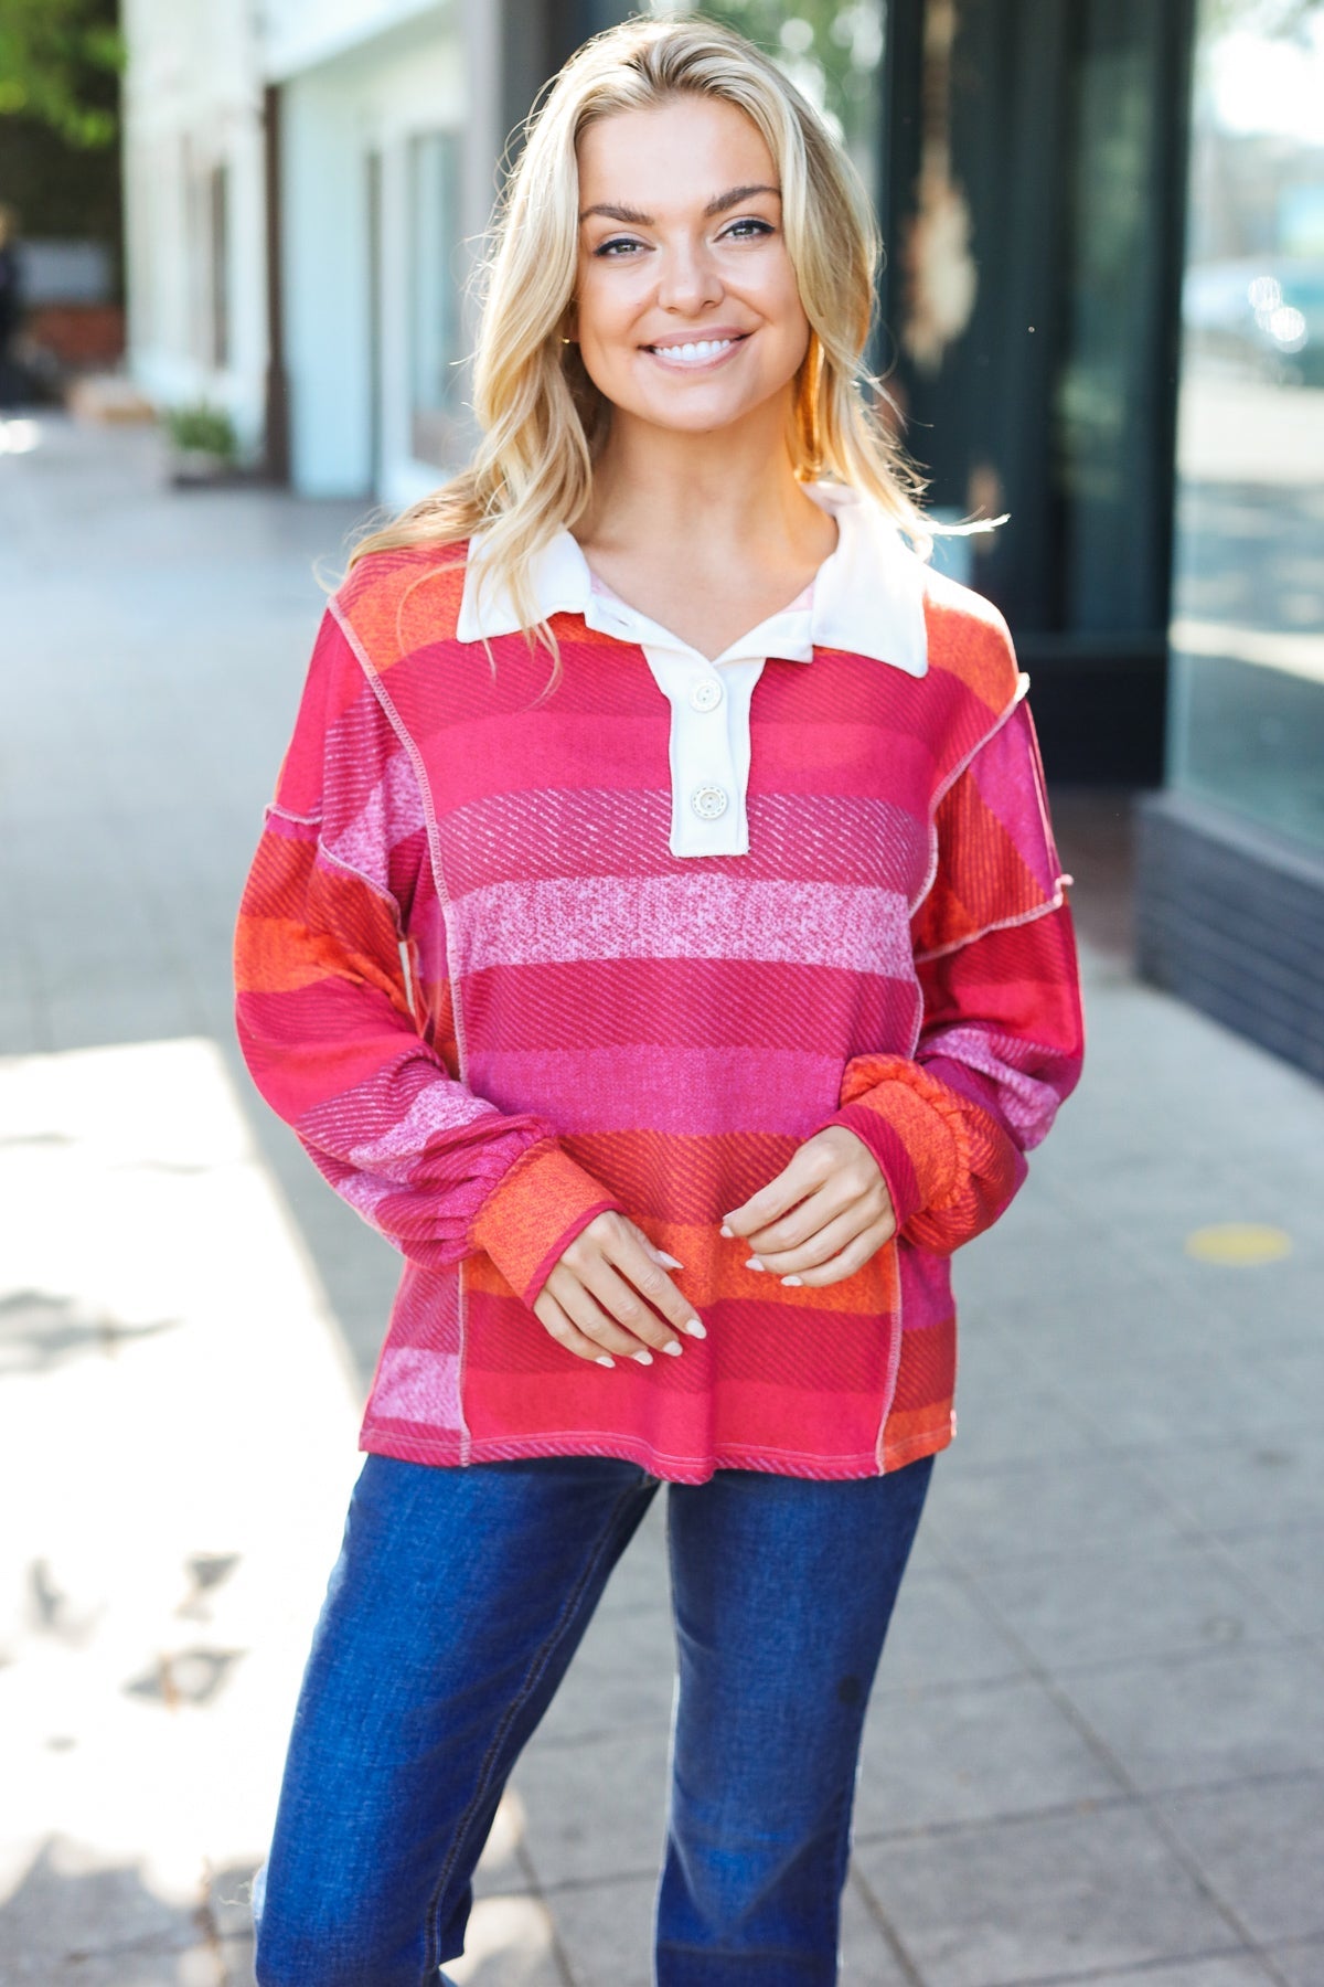
[[[1191,0],[895,0],[883,318],[1058,779],[1163,767]]]

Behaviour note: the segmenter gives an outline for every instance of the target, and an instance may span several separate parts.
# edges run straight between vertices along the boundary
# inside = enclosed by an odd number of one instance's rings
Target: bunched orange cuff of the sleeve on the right
[[[848,1065],[842,1105],[826,1121],[861,1139],[887,1180],[897,1232],[915,1214],[947,1206],[969,1174],[961,1099],[901,1055]]]

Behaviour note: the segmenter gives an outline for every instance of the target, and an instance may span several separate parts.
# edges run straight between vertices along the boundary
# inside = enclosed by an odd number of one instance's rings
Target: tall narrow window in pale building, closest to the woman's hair
[[[419,461],[447,465],[457,449],[461,318],[461,137],[409,141],[409,401]]]

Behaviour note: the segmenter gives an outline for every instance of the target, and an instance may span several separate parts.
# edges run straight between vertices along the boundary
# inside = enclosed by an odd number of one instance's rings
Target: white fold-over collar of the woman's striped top
[[[770,654],[784,662],[812,662],[816,648],[840,648],[889,662],[907,676],[923,676],[929,668],[923,560],[911,552],[881,505],[852,485],[806,483],[804,493],[838,521],[838,546],[818,568],[812,604],[768,616],[723,650],[715,664]],[[522,626],[504,588],[484,588],[478,610],[474,554],[482,538],[482,533],[472,535],[464,564],[455,628],[461,642],[516,634]],[[544,618],[582,614],[599,632],[649,648],[685,650],[679,636],[659,622],[594,590],[590,564],[564,527],[534,554],[530,580]]]

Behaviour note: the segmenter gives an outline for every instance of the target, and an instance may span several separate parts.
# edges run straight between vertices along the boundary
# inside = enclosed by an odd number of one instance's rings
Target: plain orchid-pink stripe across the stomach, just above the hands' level
[[[474,1055],[474,1087],[504,1109],[542,1111],[558,1133],[806,1137],[838,1107],[842,1059],[800,1049],[558,1049]]]

